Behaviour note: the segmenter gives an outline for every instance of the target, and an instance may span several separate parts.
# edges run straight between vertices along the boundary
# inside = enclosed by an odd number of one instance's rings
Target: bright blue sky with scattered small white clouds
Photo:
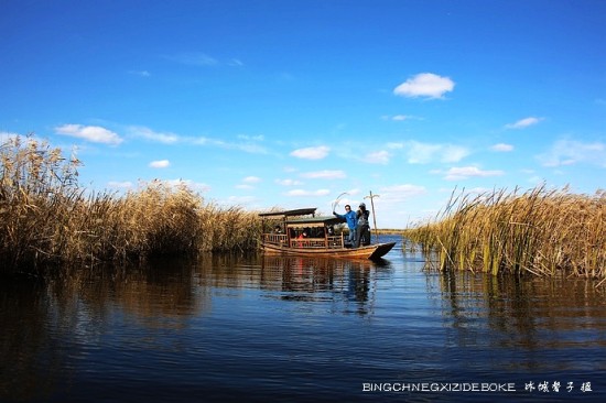
[[[0,0],[0,137],[33,132],[119,193],[377,224],[451,193],[604,188],[603,0]],[[368,202],[368,199],[366,199]]]

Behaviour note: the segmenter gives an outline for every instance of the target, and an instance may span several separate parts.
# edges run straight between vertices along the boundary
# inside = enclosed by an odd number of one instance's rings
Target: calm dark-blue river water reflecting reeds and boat
[[[428,272],[401,244],[380,263],[215,255],[0,291],[0,401],[606,396],[594,283]]]

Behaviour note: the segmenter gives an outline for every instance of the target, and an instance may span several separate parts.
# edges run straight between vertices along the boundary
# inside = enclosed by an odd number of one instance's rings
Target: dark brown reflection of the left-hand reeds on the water
[[[108,337],[118,348],[155,348],[162,330],[187,328],[210,306],[207,288],[194,284],[194,266],[155,261],[145,268],[75,270],[46,282],[1,282],[0,401],[45,401],[59,385],[72,388],[79,364]]]

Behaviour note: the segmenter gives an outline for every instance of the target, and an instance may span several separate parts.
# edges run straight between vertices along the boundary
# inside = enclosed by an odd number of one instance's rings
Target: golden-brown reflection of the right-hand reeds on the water
[[[606,303],[593,281],[452,271],[428,279],[439,281],[442,317],[458,347],[532,352],[511,359],[510,370],[606,369],[598,352],[606,347]]]

